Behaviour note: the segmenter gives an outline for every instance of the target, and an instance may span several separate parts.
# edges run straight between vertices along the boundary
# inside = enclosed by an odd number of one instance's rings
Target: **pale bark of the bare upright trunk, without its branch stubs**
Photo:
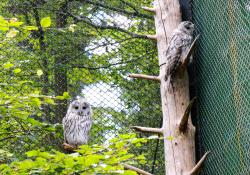
[[[179,0],[158,0],[155,10],[159,65],[162,65],[160,79],[165,170],[168,175],[188,174],[195,166],[195,128],[190,117],[185,132],[178,131],[181,118],[190,100],[188,74],[186,68],[183,74],[177,74],[172,83],[173,88],[164,78],[166,64],[162,64],[166,62],[165,51],[168,38],[181,22]],[[174,139],[167,139],[169,136]]]

